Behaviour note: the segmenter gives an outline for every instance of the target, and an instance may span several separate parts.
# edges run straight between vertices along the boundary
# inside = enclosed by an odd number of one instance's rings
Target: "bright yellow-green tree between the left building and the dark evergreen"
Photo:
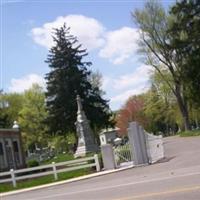
[[[47,145],[47,126],[45,119],[45,95],[42,88],[34,84],[23,95],[23,107],[19,112],[19,124],[22,131],[25,149],[38,144]]]

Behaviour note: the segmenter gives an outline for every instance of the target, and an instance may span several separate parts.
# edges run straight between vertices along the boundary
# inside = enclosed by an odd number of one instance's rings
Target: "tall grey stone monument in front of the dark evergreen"
[[[77,120],[76,120],[76,134],[78,136],[78,146],[74,157],[84,157],[86,153],[97,152],[99,150],[97,143],[94,140],[94,135],[89,126],[89,121],[83,111],[81,98],[77,95]]]

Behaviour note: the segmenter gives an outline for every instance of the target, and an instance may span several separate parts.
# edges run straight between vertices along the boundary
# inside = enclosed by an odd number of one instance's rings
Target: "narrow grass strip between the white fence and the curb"
[[[62,172],[62,173],[58,174],[57,181],[67,180],[70,178],[75,178],[75,177],[91,174],[93,172],[94,171],[92,171],[91,168],[90,169],[89,168],[79,169],[79,170],[70,171],[70,172]],[[17,181],[16,188],[13,188],[11,183],[1,183],[0,184],[0,193],[17,190],[17,189],[29,188],[29,187],[43,185],[43,184],[47,184],[47,183],[53,183],[53,182],[57,182],[57,181],[54,180],[54,176],[52,174],[52,175],[43,176],[43,177],[34,178],[34,179]]]

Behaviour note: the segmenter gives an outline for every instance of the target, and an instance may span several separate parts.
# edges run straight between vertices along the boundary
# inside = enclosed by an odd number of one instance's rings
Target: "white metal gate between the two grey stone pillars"
[[[114,146],[113,151],[117,167],[127,167],[133,165],[133,155],[129,142]]]

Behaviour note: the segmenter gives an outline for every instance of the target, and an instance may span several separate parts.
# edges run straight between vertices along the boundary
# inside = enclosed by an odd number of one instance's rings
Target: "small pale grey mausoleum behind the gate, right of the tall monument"
[[[103,130],[99,134],[101,145],[109,144],[109,143],[114,144],[114,140],[117,138],[117,130],[118,129]]]

